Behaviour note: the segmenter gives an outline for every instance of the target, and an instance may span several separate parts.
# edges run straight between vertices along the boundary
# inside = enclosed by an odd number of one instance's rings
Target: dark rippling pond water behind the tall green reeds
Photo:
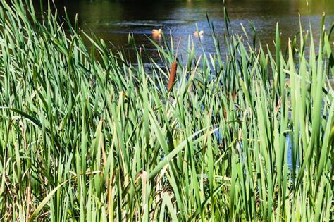
[[[299,32],[299,13],[305,30],[309,23],[318,37],[321,15],[326,12],[326,25],[334,21],[334,0],[227,0],[230,21],[235,32],[242,33],[240,23],[252,34],[249,22],[256,27],[263,44],[273,47],[276,23],[280,24],[283,45],[289,37]],[[152,29],[163,30],[165,35],[173,35],[175,44],[180,41],[180,51],[187,48],[187,39],[192,32],[204,30],[202,41],[194,39],[197,46],[208,53],[215,51],[211,29],[206,15],[214,23],[216,33],[226,32],[223,22],[222,1],[109,1],[109,0],[58,0],[59,11],[63,7],[72,18],[78,13],[80,27],[86,32],[94,32],[114,47],[126,47],[128,33],[135,36],[137,45],[144,46],[154,56],[154,46],[149,41]],[[332,41],[333,41],[332,37]],[[156,39],[159,42],[159,39]]]

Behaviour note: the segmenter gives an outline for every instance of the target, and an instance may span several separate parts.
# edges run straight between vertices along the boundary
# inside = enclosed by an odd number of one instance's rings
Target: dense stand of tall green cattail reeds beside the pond
[[[333,220],[333,24],[147,73],[50,8],[0,3],[0,221]]]

